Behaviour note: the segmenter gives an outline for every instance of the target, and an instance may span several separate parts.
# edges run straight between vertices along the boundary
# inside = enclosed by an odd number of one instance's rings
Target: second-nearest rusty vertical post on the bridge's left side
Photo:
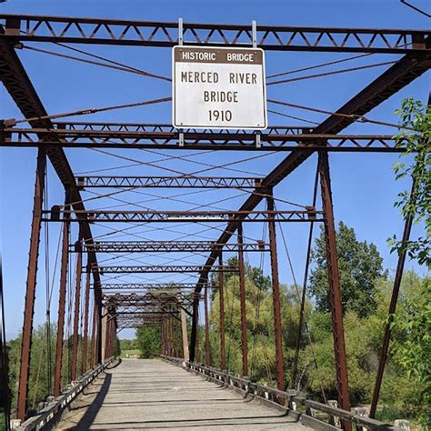
[[[67,289],[67,266],[69,264],[70,190],[65,190],[65,220],[63,222],[63,245],[60,270],[60,292],[58,296],[57,343],[55,350],[54,396],[60,395],[63,366],[63,337],[65,331],[65,294]]]

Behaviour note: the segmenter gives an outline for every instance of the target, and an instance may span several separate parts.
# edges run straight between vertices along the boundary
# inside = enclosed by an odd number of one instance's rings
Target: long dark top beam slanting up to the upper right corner
[[[426,49],[430,49],[431,37],[425,40]],[[365,115],[371,109],[380,105],[384,100],[406,85],[414,81],[418,76],[423,75],[431,67],[431,55],[423,54],[419,57],[413,55],[403,56],[395,65],[389,67],[382,75],[376,77],[369,85],[352,97],[345,105],[341,106],[336,114],[344,115]],[[355,116],[329,115],[325,121],[313,129],[316,135],[337,134],[356,121]],[[322,144],[325,146],[326,144]],[[311,155],[307,151],[296,151],[277,165],[262,181],[264,188],[271,188],[280,183],[286,176],[290,175],[299,165],[302,165]],[[250,195],[245,203],[239,208],[240,211],[252,211],[256,208],[264,196]],[[225,231],[216,241],[217,244],[226,244],[235,234],[236,223],[229,223]],[[212,251],[208,256],[205,266],[212,266],[217,258],[217,252]],[[206,275],[202,274],[198,280],[196,290],[202,285]]]

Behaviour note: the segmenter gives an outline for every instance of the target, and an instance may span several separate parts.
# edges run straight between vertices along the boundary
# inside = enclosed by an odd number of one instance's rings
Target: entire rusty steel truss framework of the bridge
[[[69,115],[49,115],[25,70],[16,51],[27,43],[80,44],[80,45],[133,45],[172,47],[185,45],[250,46],[256,44],[266,51],[331,52],[331,53],[379,53],[398,55],[396,61],[385,72],[353,95],[336,112],[327,113],[320,124],[310,126],[270,126],[263,132],[242,130],[177,130],[165,124],[136,124],[110,122],[55,121]],[[256,396],[270,399],[283,406],[292,402],[305,406],[303,417],[312,426],[322,429],[333,427],[320,420],[310,419],[309,409],[337,416],[340,426],[351,429],[352,424],[368,428],[385,429],[386,425],[371,418],[358,419],[350,413],[349,386],[346,367],[346,346],[341,305],[340,279],[336,251],[336,227],[329,169],[329,153],[397,153],[403,147],[396,145],[392,135],[350,135],[342,132],[355,122],[369,122],[367,113],[380,105],[391,95],[423,75],[431,65],[430,32],[418,30],[326,28],[257,25],[252,31],[250,25],[219,25],[184,23],[182,33],[178,23],[144,22],[119,19],[79,18],[64,16],[34,16],[0,14],[0,76],[5,89],[11,95],[24,117],[4,118],[0,123],[0,145],[37,148],[35,194],[28,256],[28,273],[25,293],[25,314],[23,341],[20,357],[19,385],[17,394],[18,419],[31,426],[41,426],[53,420],[68,401],[89,384],[115,355],[116,333],[124,328],[156,326],[161,330],[161,355],[165,360],[205,376],[212,381],[223,382],[229,387],[249,394],[253,389]],[[33,45],[32,45],[33,46]],[[392,58],[392,57],[391,57]],[[147,74],[148,75],[148,74]],[[151,75],[151,74],[149,74]],[[170,81],[164,76],[157,79]],[[163,102],[169,100],[160,99]],[[280,103],[283,105],[283,103]],[[83,110],[73,115],[91,114],[96,110]],[[69,113],[70,114],[70,113]],[[24,124],[24,125],[23,125]],[[65,148],[143,148],[158,150],[246,150],[250,152],[283,152],[283,160],[265,177],[253,176],[95,176],[76,175],[65,155]],[[317,173],[321,195],[321,207],[315,202],[301,210],[276,210],[274,187],[291,175],[311,155],[318,155]],[[44,200],[47,161],[54,168],[65,188],[65,202],[47,210]],[[87,207],[84,194],[94,189],[141,190],[146,188],[208,188],[246,191],[247,197],[235,211],[164,211],[159,210],[107,210]],[[266,210],[256,207],[266,203]],[[314,222],[325,227],[328,289],[331,304],[332,330],[334,336],[337,403],[339,408],[319,405],[300,398],[290,390],[296,384],[297,368],[292,370],[291,382],[285,381],[285,358],[283,357],[282,321],[280,311],[280,289],[278,280],[278,258],[276,224],[279,222]],[[39,243],[42,227],[57,222],[62,225],[60,247],[60,280],[58,288],[59,307],[57,338],[55,348],[55,370],[52,394],[54,404],[47,406],[37,416],[28,417],[28,386],[30,361],[32,358],[32,335],[34,329],[35,292],[38,274]],[[79,235],[70,239],[71,225],[79,225]],[[181,222],[199,224],[216,222],[221,226],[219,235],[213,241],[197,241],[194,238],[183,241],[147,241],[141,238],[131,241],[100,241],[94,236],[95,224],[123,222],[146,224],[148,222]],[[246,222],[266,225],[268,241],[249,241],[244,236]],[[404,240],[408,241],[411,220],[406,220]],[[121,231],[123,232],[123,231]],[[310,236],[311,238],[311,236]],[[245,241],[246,239],[246,241]],[[308,249],[309,249],[308,245]],[[246,252],[268,253],[271,262],[271,283],[274,302],[274,333],[276,341],[276,388],[261,387],[247,380],[249,366],[247,355],[246,326]],[[21,250],[20,253],[25,253]],[[201,265],[135,265],[137,254],[195,253],[205,256]],[[226,266],[224,253],[236,255],[236,266]],[[105,266],[104,256],[128,256],[131,265]],[[75,274],[70,274],[71,256],[76,256]],[[196,255],[197,256],[197,255]],[[399,256],[396,268],[393,300],[403,273],[406,254]],[[101,263],[99,263],[99,261]],[[183,262],[185,264],[185,262]],[[182,264],[183,264],[182,263]],[[107,274],[194,273],[195,282],[165,283],[139,281],[125,283],[121,279],[105,280]],[[210,275],[212,274],[211,278]],[[242,376],[226,372],[226,328],[225,328],[225,277],[236,274],[240,290],[240,330]],[[85,276],[84,276],[85,275]],[[82,282],[82,278],[85,281]],[[70,296],[68,286],[75,280],[73,294],[73,343],[71,352],[71,374],[65,377],[63,350],[65,347],[65,305]],[[208,290],[213,287],[220,302],[220,363],[211,364],[209,356]],[[132,291],[132,292],[129,292]],[[84,303],[80,304],[81,297]],[[200,304],[204,303],[205,365],[196,364],[196,343],[199,329]],[[82,315],[82,316],[81,316]],[[80,331],[80,317],[83,330]],[[299,323],[297,346],[304,327],[303,314]],[[190,319],[191,331],[187,334],[186,318]],[[188,339],[189,336],[189,339]],[[390,329],[386,326],[382,342],[382,354],[372,398],[371,414],[376,413],[380,386],[382,383]],[[78,346],[82,344],[82,349]],[[82,352],[82,364],[78,366],[78,354]],[[181,357],[181,359],[179,359]],[[297,365],[297,357],[296,357]],[[64,392],[62,379],[76,382],[69,392]],[[290,403],[290,404],[289,404]],[[307,419],[308,418],[308,419]],[[310,422],[311,421],[311,422]],[[33,424],[33,425],[32,425]],[[27,428],[25,428],[27,429]]]

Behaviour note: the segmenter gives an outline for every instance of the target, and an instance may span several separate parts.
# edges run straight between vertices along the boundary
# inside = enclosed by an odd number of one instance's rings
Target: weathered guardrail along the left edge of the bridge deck
[[[65,391],[57,398],[52,401],[45,402],[45,407],[39,410],[35,416],[29,417],[25,422],[18,426],[13,426],[11,429],[18,431],[33,431],[39,429],[51,429],[52,426],[60,419],[61,414],[70,404],[75,400],[76,396],[81,394],[84,388],[93,382],[96,376],[105,370],[106,366],[111,364],[115,359],[115,356],[106,359],[105,362],[99,366],[95,366],[92,370],[85,373],[78,380],[75,381],[75,385],[67,386]],[[48,398],[49,399],[49,398]]]

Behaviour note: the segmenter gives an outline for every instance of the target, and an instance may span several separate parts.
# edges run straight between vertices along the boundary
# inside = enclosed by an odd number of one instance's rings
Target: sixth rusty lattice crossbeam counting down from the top
[[[88,268],[83,268],[83,272],[87,272]],[[94,269],[94,268],[91,268]],[[178,266],[178,265],[169,265],[169,266],[97,266],[97,271],[100,275],[104,274],[115,274],[115,273],[124,273],[124,274],[133,274],[133,273],[199,273],[202,271],[211,271],[211,272],[236,272],[238,270],[237,266],[195,266],[195,265],[186,265],[186,266]]]

